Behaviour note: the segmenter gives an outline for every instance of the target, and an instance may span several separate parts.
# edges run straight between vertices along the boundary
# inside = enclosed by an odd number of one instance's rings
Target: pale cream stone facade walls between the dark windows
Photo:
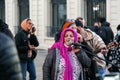
[[[18,26],[20,24],[20,12],[18,6],[19,1],[4,1],[5,22],[10,26],[13,34],[16,34]],[[54,42],[54,37],[47,36],[49,32],[52,31],[52,29],[50,28],[48,30],[48,27],[52,26],[53,23],[53,6],[51,4],[52,1],[55,2],[55,0],[29,0],[29,17],[33,20],[34,25],[37,28],[36,35],[40,42],[40,46],[38,47],[38,49],[48,49]],[[86,1],[87,0],[66,0],[66,18],[76,19],[76,17],[81,16],[87,19]],[[111,23],[111,27],[115,33],[116,26],[120,24],[119,4],[120,0],[106,0],[106,19],[108,22]],[[61,14],[64,14],[64,11]]]

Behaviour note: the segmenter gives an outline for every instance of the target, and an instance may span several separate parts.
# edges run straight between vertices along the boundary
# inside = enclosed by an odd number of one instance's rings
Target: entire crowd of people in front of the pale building
[[[115,36],[105,18],[93,27],[87,27],[82,17],[62,24],[43,63],[43,80],[103,80],[107,73],[120,72],[120,25]],[[0,44],[6,44],[0,47],[1,80],[26,80],[27,72],[29,80],[36,80],[34,59],[39,41],[35,31],[32,20],[26,18],[14,37],[0,20]]]

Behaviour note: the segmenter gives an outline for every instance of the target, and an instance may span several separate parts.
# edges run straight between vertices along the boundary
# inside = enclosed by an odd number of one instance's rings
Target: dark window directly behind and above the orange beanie
[[[52,26],[49,27],[48,37],[54,37],[66,19],[66,0],[51,0],[52,3]]]

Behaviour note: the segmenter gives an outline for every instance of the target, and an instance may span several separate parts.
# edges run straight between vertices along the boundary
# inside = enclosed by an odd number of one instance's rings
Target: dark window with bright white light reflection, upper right
[[[106,0],[87,0],[87,25],[92,26],[100,17],[106,18]]]

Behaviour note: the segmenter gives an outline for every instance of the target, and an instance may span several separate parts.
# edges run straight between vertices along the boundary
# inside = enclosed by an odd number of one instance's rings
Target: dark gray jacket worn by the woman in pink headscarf
[[[80,50],[80,52],[76,53],[76,55],[82,67],[90,67],[91,59],[86,55],[86,53],[82,49]],[[60,51],[58,49],[53,49],[49,51],[43,64],[43,80],[56,80],[59,59]],[[84,80],[83,71],[80,74],[79,80]]]

